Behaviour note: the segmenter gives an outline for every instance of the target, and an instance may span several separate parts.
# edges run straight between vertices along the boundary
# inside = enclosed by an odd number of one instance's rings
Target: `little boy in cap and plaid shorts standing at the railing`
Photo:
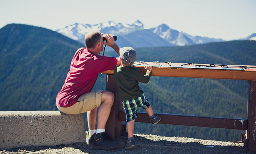
[[[146,65],[144,67],[147,70],[144,76],[138,68],[132,67],[136,60],[136,51],[134,49],[124,47],[119,50],[119,53],[121,66],[114,69],[114,77],[126,112],[128,141],[125,149],[131,149],[135,147],[133,130],[134,121],[138,117],[137,108],[141,107],[146,110],[153,125],[157,124],[161,117],[154,114],[148,99],[139,87],[139,82],[148,83],[150,81],[152,66]]]

